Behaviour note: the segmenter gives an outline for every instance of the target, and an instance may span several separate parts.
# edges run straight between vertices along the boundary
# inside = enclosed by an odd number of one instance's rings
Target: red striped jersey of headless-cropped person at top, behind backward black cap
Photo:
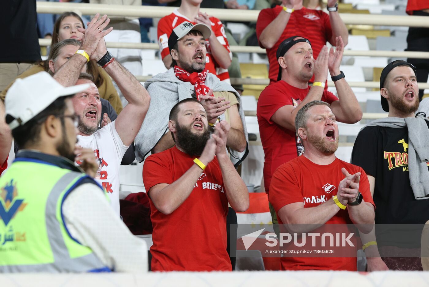
[[[267,8],[261,10],[256,22],[256,36],[261,36],[262,31],[278,16],[279,13],[285,13],[282,6]],[[323,45],[332,38],[332,28],[329,21],[329,15],[320,10],[307,9],[305,7],[294,11],[287,22],[286,28],[278,41],[271,49],[266,49],[269,60],[269,79],[270,84],[277,81],[278,62],[277,48],[284,39],[292,36],[302,36],[310,40],[313,49],[313,57],[317,58]],[[334,43],[335,44],[335,43]],[[261,43],[261,48],[265,48]]]

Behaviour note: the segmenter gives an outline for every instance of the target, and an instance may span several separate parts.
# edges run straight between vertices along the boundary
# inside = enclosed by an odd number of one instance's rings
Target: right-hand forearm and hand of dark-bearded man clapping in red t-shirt
[[[222,121],[215,126],[215,133],[212,138],[216,140],[216,157],[221,167],[228,202],[235,211],[244,212],[249,208],[249,193],[246,184],[227,154],[226,146],[229,132],[230,125],[226,121]]]

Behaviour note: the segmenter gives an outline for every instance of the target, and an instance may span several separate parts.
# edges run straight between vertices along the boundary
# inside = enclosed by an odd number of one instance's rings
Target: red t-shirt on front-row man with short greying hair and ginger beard
[[[283,206],[294,202],[304,202],[304,208],[315,207],[326,202],[337,194],[338,184],[344,178],[341,172],[342,167],[350,174],[361,172],[359,191],[362,193],[365,202],[374,205],[369,190],[368,177],[361,167],[346,163],[338,158],[326,166],[320,166],[307,157],[297,157],[281,165],[275,171],[268,195],[269,202],[274,206],[276,213]],[[283,224],[281,218],[278,216],[277,218],[278,223]],[[338,211],[326,224],[353,223],[346,208]],[[352,242],[356,242],[356,237],[352,239]],[[354,245],[356,246],[356,244]],[[356,271],[357,267],[356,257],[282,257],[281,268],[283,270]]]

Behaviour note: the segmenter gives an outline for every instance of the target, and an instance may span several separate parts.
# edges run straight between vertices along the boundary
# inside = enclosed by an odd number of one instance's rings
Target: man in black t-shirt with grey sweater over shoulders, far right
[[[368,174],[377,205],[375,224],[425,224],[429,220],[429,121],[423,114],[416,116],[418,89],[414,65],[403,60],[389,63],[380,77],[381,106],[389,115],[360,130],[353,146],[352,163]],[[414,232],[405,239],[376,228],[376,240],[370,239],[368,251],[372,249],[375,256],[380,251],[385,263],[377,258],[380,266],[422,270],[421,228]],[[408,255],[394,257],[400,249]]]

